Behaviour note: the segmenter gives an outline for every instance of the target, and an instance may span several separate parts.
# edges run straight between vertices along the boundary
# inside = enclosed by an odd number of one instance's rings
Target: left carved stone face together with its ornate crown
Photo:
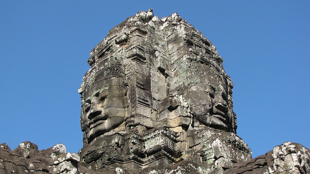
[[[132,71],[126,56],[111,55],[95,63],[86,73],[80,91],[83,95],[81,121],[88,142],[99,135],[125,131]]]

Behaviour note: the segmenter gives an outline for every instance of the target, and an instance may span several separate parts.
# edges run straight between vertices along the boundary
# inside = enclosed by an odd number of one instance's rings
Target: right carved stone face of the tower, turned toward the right
[[[186,98],[190,99],[191,112],[201,124],[229,132],[232,114],[223,85],[208,75],[200,79],[208,83],[196,83],[190,88]]]

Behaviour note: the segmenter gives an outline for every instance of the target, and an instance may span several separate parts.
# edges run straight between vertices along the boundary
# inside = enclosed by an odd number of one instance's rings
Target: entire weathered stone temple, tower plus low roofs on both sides
[[[177,13],[139,11],[91,51],[83,148],[0,144],[0,174],[309,174],[309,149],[285,142],[255,159],[236,135],[231,78],[215,46]]]

